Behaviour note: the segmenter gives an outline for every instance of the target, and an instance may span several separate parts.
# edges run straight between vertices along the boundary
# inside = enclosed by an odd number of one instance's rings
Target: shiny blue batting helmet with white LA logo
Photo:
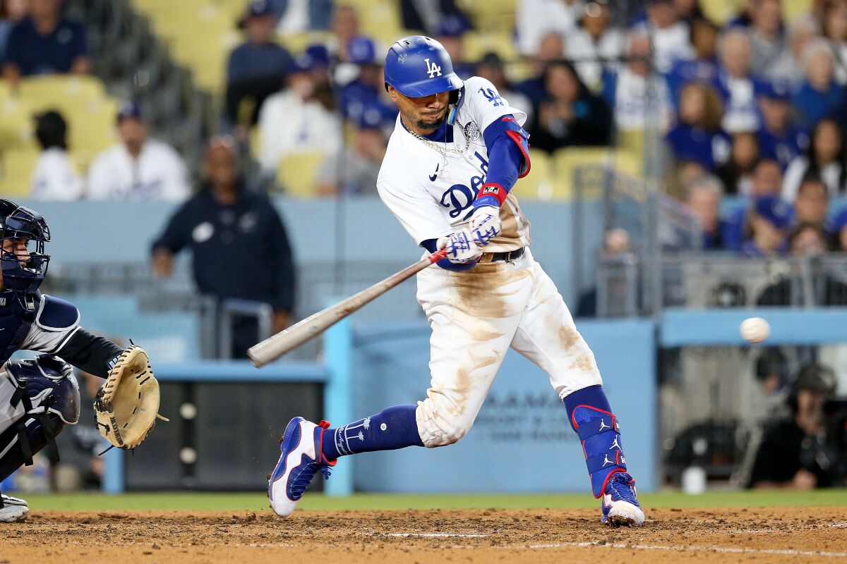
[[[385,56],[385,84],[412,98],[459,90],[464,85],[453,72],[444,46],[424,36],[404,37],[391,46]]]

